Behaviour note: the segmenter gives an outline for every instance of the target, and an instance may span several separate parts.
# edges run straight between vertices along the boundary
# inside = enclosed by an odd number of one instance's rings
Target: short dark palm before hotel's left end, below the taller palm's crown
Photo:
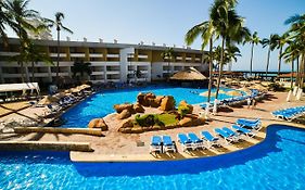
[[[31,63],[31,83],[35,80],[35,64],[38,62],[45,62],[47,64],[53,64],[52,59],[43,52],[39,47],[34,45],[31,41],[29,42],[28,47],[26,48],[26,60]]]

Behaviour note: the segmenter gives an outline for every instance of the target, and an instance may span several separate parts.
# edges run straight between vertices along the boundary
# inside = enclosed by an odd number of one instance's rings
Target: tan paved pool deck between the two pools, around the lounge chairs
[[[270,124],[284,124],[305,128],[303,124],[289,123],[275,118],[270,112],[283,107],[304,105],[305,99],[287,102],[287,92],[269,92],[266,100],[258,102],[256,107],[247,109],[246,106],[233,107],[227,112],[219,112],[213,116],[213,121],[205,125],[196,127],[182,127],[160,131],[148,131],[143,134],[120,134],[117,132],[117,123],[112,123],[113,115],[105,118],[110,125],[110,130],[104,132],[104,137],[92,137],[86,135],[61,135],[61,134],[28,134],[22,136],[2,137],[0,140],[20,140],[20,141],[69,141],[69,142],[89,142],[94,150],[92,153],[71,152],[71,160],[74,162],[147,162],[147,161],[168,161],[195,159],[205,156],[215,156],[219,154],[230,153],[242,150],[262,142],[266,137],[266,126]],[[194,106],[194,113],[202,111],[199,106]],[[244,141],[225,144],[223,148],[213,148],[207,150],[191,151],[186,153],[182,151],[177,141],[178,132],[195,132],[198,136],[201,130],[213,132],[215,127],[231,126],[237,118],[257,118],[263,121],[263,128],[255,138],[245,138]],[[214,132],[213,132],[214,134]],[[178,153],[152,155],[149,153],[149,144],[153,135],[169,135],[176,141]]]

